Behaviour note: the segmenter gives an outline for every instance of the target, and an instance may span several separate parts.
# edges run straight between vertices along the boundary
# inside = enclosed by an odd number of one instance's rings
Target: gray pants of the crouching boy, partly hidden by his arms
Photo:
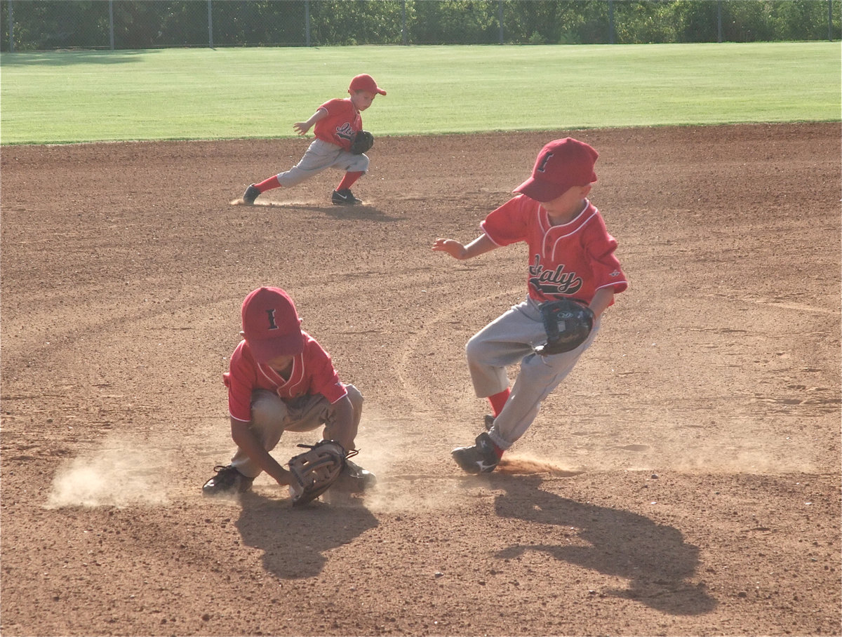
[[[351,405],[354,406],[354,431],[350,438],[356,438],[360,428],[363,410],[363,396],[354,385],[345,385]],[[284,432],[310,432],[324,425],[322,438],[333,440],[338,436],[335,409],[321,394],[303,395],[293,401],[281,400],[274,391],[254,390],[252,392],[251,430],[264,449],[271,451],[280,442]],[[317,441],[316,441],[317,442]],[[350,451],[350,449],[348,449]],[[294,454],[293,454],[294,455]],[[291,457],[291,456],[290,456]],[[242,449],[237,449],[231,464],[242,475],[250,478],[260,475],[262,470]]]

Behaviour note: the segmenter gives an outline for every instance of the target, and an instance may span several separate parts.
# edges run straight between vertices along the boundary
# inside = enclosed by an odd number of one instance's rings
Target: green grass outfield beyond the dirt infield
[[[376,135],[840,119],[839,42],[4,53],[0,143],[295,135],[357,73]]]

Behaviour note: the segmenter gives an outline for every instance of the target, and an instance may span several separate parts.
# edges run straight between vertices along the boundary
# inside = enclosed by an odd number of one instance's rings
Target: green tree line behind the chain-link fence
[[[839,40],[842,0],[0,0],[0,50]]]

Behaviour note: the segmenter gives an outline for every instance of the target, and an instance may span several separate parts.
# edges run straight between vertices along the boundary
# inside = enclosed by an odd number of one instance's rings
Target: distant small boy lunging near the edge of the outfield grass
[[[316,139],[307,148],[301,161],[290,170],[246,188],[242,195],[244,204],[253,205],[254,199],[267,190],[290,188],[331,167],[345,171],[342,181],[333,191],[333,204],[362,203],[351,193],[351,186],[368,170],[369,158],[365,155],[365,147],[360,149],[352,145],[357,132],[363,129],[360,113],[370,107],[377,94],[386,95],[386,91],[377,86],[373,77],[363,74],[351,80],[348,93],[350,98],[328,100],[306,122],[292,125],[299,135],[306,135],[315,125],[313,133]]]

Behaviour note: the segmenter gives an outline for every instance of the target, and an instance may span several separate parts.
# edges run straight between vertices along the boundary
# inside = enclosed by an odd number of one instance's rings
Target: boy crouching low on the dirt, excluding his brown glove
[[[269,452],[288,432],[308,432],[324,425],[323,438],[354,450],[363,397],[339,380],[330,356],[306,332],[290,296],[280,288],[253,290],[242,302],[243,340],[234,349],[228,388],[231,437],[237,444],[231,464],[217,466],[205,482],[205,495],[248,491],[265,471],[279,485],[289,485],[285,470]],[[332,489],[362,492],[375,476],[345,461]]]

